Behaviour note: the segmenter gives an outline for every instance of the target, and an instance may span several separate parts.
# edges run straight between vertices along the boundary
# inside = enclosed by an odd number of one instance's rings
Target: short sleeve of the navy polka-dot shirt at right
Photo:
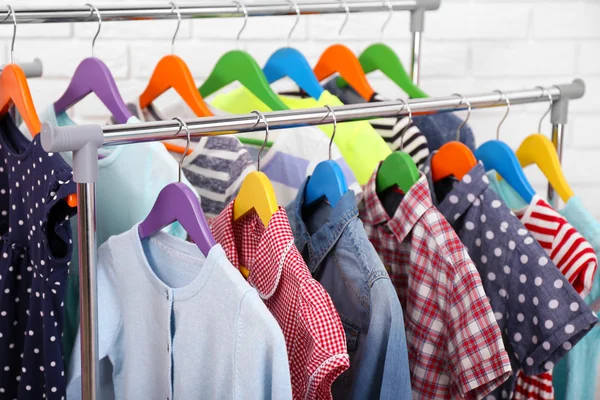
[[[597,318],[535,243],[519,244],[509,261],[507,336],[525,375],[551,370]]]

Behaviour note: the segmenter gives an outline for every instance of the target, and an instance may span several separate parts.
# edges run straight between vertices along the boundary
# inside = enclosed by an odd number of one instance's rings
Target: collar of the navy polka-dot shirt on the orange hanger
[[[429,158],[431,160],[431,156]],[[433,184],[431,180],[431,171],[428,172],[430,186]],[[431,186],[433,188],[433,186]],[[439,202],[438,210],[453,223],[459,219],[467,210],[475,205],[481,204],[480,195],[490,187],[490,181],[485,172],[485,168],[481,162],[478,162],[471,170],[458,181],[450,193]],[[435,196],[432,190],[432,197]],[[435,201],[435,200],[434,200]]]

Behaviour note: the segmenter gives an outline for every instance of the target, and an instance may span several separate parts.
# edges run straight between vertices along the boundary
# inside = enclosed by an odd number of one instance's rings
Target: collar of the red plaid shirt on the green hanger
[[[433,207],[427,178],[422,172],[420,173],[420,178],[404,195],[394,216],[390,217],[377,195],[378,171],[379,168],[373,172],[364,188],[364,222],[371,225],[386,224],[398,241],[403,242],[417,221]]]

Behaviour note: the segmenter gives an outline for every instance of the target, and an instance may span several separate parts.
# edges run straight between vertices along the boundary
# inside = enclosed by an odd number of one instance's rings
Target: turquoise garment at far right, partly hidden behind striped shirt
[[[600,222],[587,210],[581,199],[571,197],[559,211],[583,237],[590,242],[596,256],[600,254]],[[585,302],[597,313],[600,311],[600,279],[598,269],[592,291]],[[600,325],[596,324],[586,337],[555,367],[552,386],[558,400],[593,399],[597,392],[598,363],[600,361]],[[590,382],[595,382],[591,384]]]

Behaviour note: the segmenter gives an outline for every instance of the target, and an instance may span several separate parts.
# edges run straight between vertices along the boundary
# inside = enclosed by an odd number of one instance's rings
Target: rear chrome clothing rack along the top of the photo
[[[411,78],[419,84],[421,66],[421,42],[424,28],[425,11],[437,10],[441,0],[384,0],[358,1],[345,0],[332,2],[298,3],[301,15],[310,14],[343,14],[377,11],[410,11],[410,31],[412,34]],[[235,2],[203,3],[201,5],[178,5],[182,19],[195,18],[245,18],[245,13]],[[281,3],[251,3],[245,4],[248,17],[274,15],[296,15],[295,5],[290,2]],[[54,23],[54,22],[97,22],[89,6],[73,7],[40,7],[14,9],[18,24]],[[101,6],[98,14],[103,21],[133,21],[177,19],[177,13],[172,12],[172,6],[165,1],[164,5],[152,6]],[[2,11],[9,15],[9,10]],[[0,19],[0,24],[13,24],[11,18]]]

